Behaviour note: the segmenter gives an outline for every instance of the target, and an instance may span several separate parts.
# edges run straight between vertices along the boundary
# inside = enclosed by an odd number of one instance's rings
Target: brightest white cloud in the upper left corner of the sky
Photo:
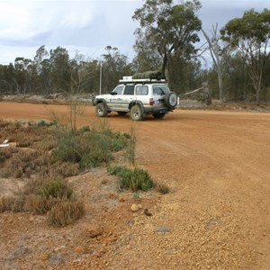
[[[84,1],[1,1],[0,6],[0,41],[11,46],[27,40],[43,44],[54,32],[78,31],[94,18],[94,4]]]

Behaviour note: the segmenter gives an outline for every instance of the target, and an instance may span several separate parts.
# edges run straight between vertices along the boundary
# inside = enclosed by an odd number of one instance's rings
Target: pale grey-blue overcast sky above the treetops
[[[175,4],[182,2],[176,0]],[[254,8],[270,8],[269,0],[201,0],[202,27],[219,28],[230,19]],[[17,57],[33,59],[40,46],[68,49],[87,58],[100,58],[107,45],[117,47],[130,61],[133,58],[132,21],[143,0],[0,0],[0,64],[14,63]]]

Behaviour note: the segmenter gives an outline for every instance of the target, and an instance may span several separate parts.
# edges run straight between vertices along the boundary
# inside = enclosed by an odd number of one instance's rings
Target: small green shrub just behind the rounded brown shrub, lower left
[[[43,184],[43,186],[35,192],[36,195],[40,195],[49,199],[60,198],[60,199],[71,199],[73,190],[67,184],[66,181],[62,179],[55,179]]]

